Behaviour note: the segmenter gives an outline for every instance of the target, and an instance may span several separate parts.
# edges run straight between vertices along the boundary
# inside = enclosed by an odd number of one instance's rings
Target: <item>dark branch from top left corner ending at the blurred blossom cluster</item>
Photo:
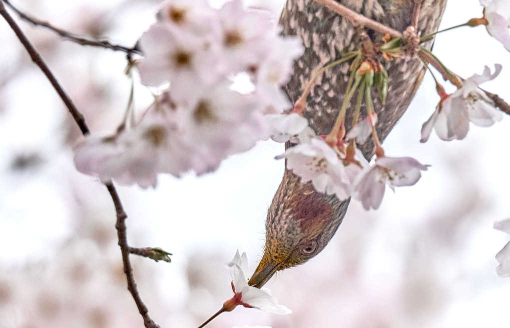
[[[126,46],[122,46],[122,45],[118,45],[118,44],[112,44],[110,41],[108,40],[90,40],[90,39],[86,39],[86,38],[82,38],[78,35],[75,35],[73,33],[70,33],[70,32],[67,32],[65,30],[62,30],[62,29],[59,29],[57,28],[56,26],[53,26],[52,24],[50,24],[49,22],[47,21],[43,21],[43,20],[40,20],[38,18],[35,18],[34,16],[31,16],[31,15],[28,15],[28,14],[25,14],[24,12],[20,11],[19,9],[17,9],[16,7],[14,7],[11,2],[9,0],[4,0],[4,2],[12,9],[16,12],[16,14],[19,15],[19,17],[35,26],[41,26],[45,29],[48,29],[56,34],[58,34],[60,37],[64,38],[65,40],[68,40],[68,41],[71,41],[71,42],[74,42],[74,43],[78,43],[80,45],[89,45],[89,46],[93,46],[93,47],[101,47],[101,48],[107,48],[107,49],[112,49],[112,50],[115,50],[115,51],[123,51],[123,52],[126,52],[128,54],[133,54],[133,53],[141,53],[140,50],[136,49],[136,47],[126,47]]]

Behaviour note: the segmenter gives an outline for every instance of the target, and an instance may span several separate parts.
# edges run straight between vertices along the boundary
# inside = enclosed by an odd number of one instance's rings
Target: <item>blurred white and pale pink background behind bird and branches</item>
[[[270,9],[275,19],[284,4],[247,3]],[[159,1],[14,4],[65,30],[131,46],[154,22]],[[481,11],[477,0],[449,0],[442,28]],[[92,131],[114,131],[130,91],[124,54],[63,41],[16,19]],[[0,328],[142,327],[126,289],[112,201],[103,185],[73,167],[80,132],[8,25],[0,26]],[[500,76],[482,87],[510,100],[510,53],[483,27],[442,34],[434,50],[465,78],[502,64]],[[135,94],[141,111],[150,94],[140,85]],[[321,254],[267,284],[293,314],[237,308],[209,326],[510,326],[510,278],[497,277],[494,259],[510,235],[492,228],[510,216],[510,118],[490,128],[471,125],[463,141],[433,134],[420,144],[421,125],[438,101],[427,74],[385,142],[390,156],[431,165],[423,178],[395,194],[387,190],[377,211],[352,202]],[[160,176],[149,190],[119,187],[130,245],[174,254],[170,264],[131,257],[142,299],[163,328],[196,327],[232,296],[223,264],[236,249],[254,269],[284,170],[273,157],[282,152],[281,144],[261,142],[214,174]]]

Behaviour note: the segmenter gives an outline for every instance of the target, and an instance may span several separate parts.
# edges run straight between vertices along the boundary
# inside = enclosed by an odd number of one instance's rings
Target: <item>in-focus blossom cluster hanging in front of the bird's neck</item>
[[[355,125],[348,135],[359,139],[366,131],[359,125],[364,124],[366,120]],[[369,165],[359,149],[351,145],[331,147],[309,127],[292,141],[297,145],[287,149],[281,157],[287,158],[287,168],[298,175],[301,182],[311,181],[318,192],[335,194],[339,200],[357,199],[366,210],[379,208],[386,185],[393,190],[396,186],[414,185],[421,171],[428,167],[411,157],[387,156],[378,157]]]

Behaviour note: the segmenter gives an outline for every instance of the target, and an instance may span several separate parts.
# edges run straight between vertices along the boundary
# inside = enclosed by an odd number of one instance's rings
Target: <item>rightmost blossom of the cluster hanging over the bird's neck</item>
[[[378,209],[387,184],[393,190],[395,187],[413,185],[427,167],[411,157],[377,158],[374,165],[356,177],[352,197],[361,201],[366,210]]]

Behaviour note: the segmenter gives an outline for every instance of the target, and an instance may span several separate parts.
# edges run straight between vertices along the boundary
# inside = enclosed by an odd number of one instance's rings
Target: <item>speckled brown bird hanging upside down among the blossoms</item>
[[[336,1],[400,32],[412,26],[413,13],[419,8],[416,28],[425,35],[437,31],[447,0]],[[283,35],[298,36],[304,45],[304,53],[294,62],[292,76],[284,86],[292,102],[301,96],[314,72],[342,54],[360,48],[362,35],[374,43],[384,37],[362,26],[354,27],[346,18],[313,0],[287,0],[280,23]],[[422,46],[430,49],[432,44],[430,39]],[[373,102],[378,116],[375,127],[382,142],[411,103],[426,67],[418,59],[405,56],[381,60],[381,64],[388,72],[388,94],[384,104],[376,97]],[[318,135],[333,128],[347,87],[349,65],[344,63],[326,70],[307,97],[302,114]],[[354,104],[355,99],[345,116],[347,130],[352,126],[349,122]],[[286,148],[291,146],[286,144]],[[372,157],[373,147],[371,140],[360,146],[366,159]],[[317,192],[310,182],[301,183],[298,176],[286,169],[268,209],[264,253],[248,284],[260,288],[277,271],[303,264],[319,254],[342,223],[349,201]]]

